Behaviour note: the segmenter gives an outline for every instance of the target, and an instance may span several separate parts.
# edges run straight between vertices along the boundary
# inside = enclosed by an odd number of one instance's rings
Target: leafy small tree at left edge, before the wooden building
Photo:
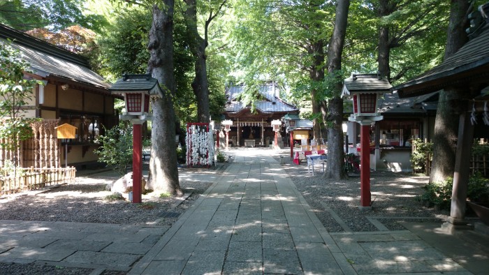
[[[4,149],[14,151],[13,161],[16,165],[19,156],[17,149],[22,140],[32,136],[30,123],[34,119],[24,117],[22,107],[31,101],[34,87],[42,84],[38,80],[24,77],[30,72],[30,65],[10,42],[0,47],[0,117],[5,120],[0,125],[0,143]]]

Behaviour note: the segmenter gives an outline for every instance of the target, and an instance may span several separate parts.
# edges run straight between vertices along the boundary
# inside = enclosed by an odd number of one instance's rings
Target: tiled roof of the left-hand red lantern
[[[143,75],[129,75],[124,74],[122,78],[119,78],[112,87],[109,88],[114,94],[126,94],[126,93],[148,93],[150,95],[163,94],[159,87],[158,80],[151,77],[149,74]]]

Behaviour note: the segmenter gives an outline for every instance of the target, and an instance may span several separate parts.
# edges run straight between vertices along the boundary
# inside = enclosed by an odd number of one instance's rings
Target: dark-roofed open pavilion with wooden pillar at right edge
[[[474,12],[469,42],[441,64],[413,80],[393,87],[400,98],[451,88],[462,94],[456,140],[450,217],[444,228],[470,228],[465,220],[469,158],[474,137],[489,136],[489,3]],[[469,17],[470,18],[470,17]],[[479,24],[480,23],[480,24]],[[489,215],[489,213],[488,213]]]

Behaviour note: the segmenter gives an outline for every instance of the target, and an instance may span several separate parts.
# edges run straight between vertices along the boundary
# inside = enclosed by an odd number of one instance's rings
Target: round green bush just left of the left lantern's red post
[[[105,135],[98,137],[101,147],[94,151],[98,161],[115,165],[120,175],[126,174],[127,165],[133,162],[133,135],[128,121],[119,122],[111,129],[105,128]]]

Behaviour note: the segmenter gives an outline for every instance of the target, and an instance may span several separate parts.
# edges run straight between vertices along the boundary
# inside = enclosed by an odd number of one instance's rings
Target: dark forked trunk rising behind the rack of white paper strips
[[[210,122],[209,83],[207,80],[207,63],[205,48],[207,47],[207,35],[202,38],[197,28],[197,6],[196,0],[184,0],[187,3],[185,15],[187,17],[187,34],[189,36],[190,51],[195,59],[196,76],[192,82],[192,89],[197,99],[198,122]],[[208,23],[205,24],[207,34]]]

